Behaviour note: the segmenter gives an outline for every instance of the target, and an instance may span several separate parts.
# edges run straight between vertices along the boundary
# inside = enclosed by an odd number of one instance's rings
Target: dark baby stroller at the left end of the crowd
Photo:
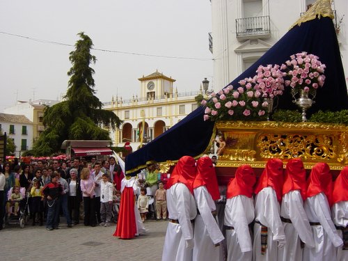
[[[22,194],[22,200],[19,201],[19,207],[17,211],[17,215],[11,214],[10,216],[6,213],[3,222],[3,228],[6,225],[19,225],[20,228],[24,228],[24,226],[29,222],[29,191],[26,191],[25,188],[20,188],[20,193]],[[12,188],[8,191],[8,195],[12,194]],[[8,197],[9,198],[9,197]],[[7,202],[10,202],[9,200]],[[11,206],[14,207],[14,206]]]

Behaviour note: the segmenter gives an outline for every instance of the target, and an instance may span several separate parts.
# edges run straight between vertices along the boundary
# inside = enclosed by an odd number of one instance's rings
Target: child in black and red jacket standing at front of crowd
[[[58,173],[53,173],[51,182],[47,184],[43,189],[42,193],[47,198],[47,222],[46,229],[54,230],[58,229],[58,217],[59,217],[59,198],[63,189],[61,184],[58,183]]]

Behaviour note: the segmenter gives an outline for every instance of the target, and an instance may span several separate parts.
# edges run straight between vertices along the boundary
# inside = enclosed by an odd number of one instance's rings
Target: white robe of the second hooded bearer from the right
[[[343,242],[331,219],[330,207],[324,193],[307,198],[304,209],[310,222],[319,222],[321,226],[311,226],[315,242],[314,248],[305,246],[303,260],[335,261],[336,249]]]

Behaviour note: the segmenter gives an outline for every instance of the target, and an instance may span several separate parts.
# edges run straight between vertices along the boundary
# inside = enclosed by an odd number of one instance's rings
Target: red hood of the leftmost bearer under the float
[[[196,160],[191,156],[184,156],[177,161],[173,173],[167,182],[167,189],[170,189],[177,182],[183,183],[193,193],[193,180],[196,177]]]

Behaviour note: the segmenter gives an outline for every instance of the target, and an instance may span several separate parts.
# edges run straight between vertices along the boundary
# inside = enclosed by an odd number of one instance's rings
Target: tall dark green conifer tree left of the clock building
[[[90,63],[96,58],[90,54],[92,40],[84,32],[70,52],[72,68],[65,100],[45,109],[43,124],[45,131],[33,146],[34,155],[52,155],[61,148],[66,139],[109,140],[109,131],[102,129],[120,126],[121,120],[112,111],[102,109],[102,102],[95,97],[95,83]]]

